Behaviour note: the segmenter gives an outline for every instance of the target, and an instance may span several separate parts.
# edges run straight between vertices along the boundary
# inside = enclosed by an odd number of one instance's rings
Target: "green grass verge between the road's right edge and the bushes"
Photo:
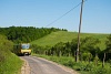
[[[53,62],[57,62],[59,64],[62,64],[64,66],[71,67],[75,71],[78,71],[80,74],[111,74],[111,64],[105,63],[105,66],[102,67],[102,63],[99,62],[97,65],[94,62],[79,62],[75,63],[73,57],[68,56],[48,56],[48,55],[39,55],[34,54],[36,56],[43,57]]]

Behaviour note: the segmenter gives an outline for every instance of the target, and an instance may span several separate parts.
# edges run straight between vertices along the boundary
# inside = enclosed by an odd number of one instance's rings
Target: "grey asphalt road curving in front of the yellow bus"
[[[22,56],[31,68],[31,74],[77,74],[50,61],[36,56]]]

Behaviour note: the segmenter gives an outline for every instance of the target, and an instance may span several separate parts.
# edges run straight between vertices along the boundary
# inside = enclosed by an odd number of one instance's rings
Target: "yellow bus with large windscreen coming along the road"
[[[31,49],[30,49],[30,43],[20,43],[16,44],[13,46],[13,52],[17,55],[30,55],[31,54]]]

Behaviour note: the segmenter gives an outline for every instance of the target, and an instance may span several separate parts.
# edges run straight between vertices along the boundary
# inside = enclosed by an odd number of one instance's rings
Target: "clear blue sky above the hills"
[[[0,27],[46,28],[81,0],[0,0]],[[47,28],[78,32],[80,7]],[[88,0],[83,6],[81,32],[111,33],[111,0]]]

